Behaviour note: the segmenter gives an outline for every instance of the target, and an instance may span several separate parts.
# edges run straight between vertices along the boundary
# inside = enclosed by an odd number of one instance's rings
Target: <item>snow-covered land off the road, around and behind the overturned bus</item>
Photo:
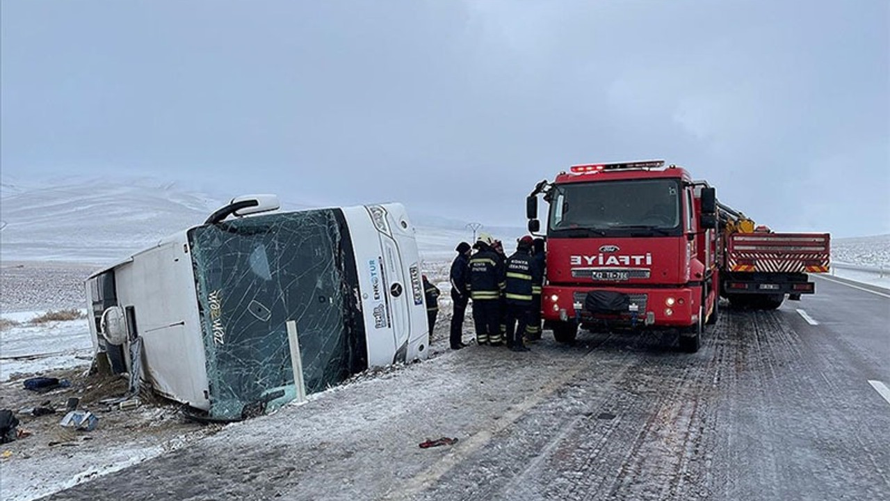
[[[152,185],[148,181],[127,187],[71,181],[64,188],[4,183],[3,197],[0,407],[14,407],[14,411],[19,410],[15,404],[21,402],[15,397],[21,393],[21,374],[77,377],[89,364],[92,350],[85,319],[45,324],[32,324],[30,320],[48,310],[84,308],[83,280],[92,271],[182,227],[200,224],[220,205],[200,194],[179,193],[174,186]],[[415,223],[424,272],[446,291],[454,247],[457,242],[471,240],[472,232],[461,222],[441,218],[418,217]],[[506,249],[512,250],[522,227],[483,227],[481,231],[502,239]],[[890,235],[837,239],[833,247],[838,266],[833,268],[832,275],[890,289],[888,274],[881,272],[890,263]],[[441,304],[431,345],[433,358],[448,352],[447,293]],[[418,381],[424,379],[423,371],[424,365],[411,368],[412,374],[420,374]],[[363,377],[373,378],[375,374],[381,373],[372,371]],[[90,389],[86,386],[80,390]],[[318,394],[313,398],[336,396]],[[0,460],[3,499],[24,501],[41,497],[214,432],[196,431],[176,423],[161,427],[170,431],[158,432],[151,439],[130,436],[134,426],[148,429],[150,423],[172,423],[172,418],[161,418],[158,412],[164,415],[174,411],[158,406],[131,415],[103,415],[101,428],[93,434],[96,444],[90,447],[79,442],[77,454],[70,448],[50,448],[45,437],[37,434],[20,440],[14,447],[4,446],[2,450],[14,452]],[[50,419],[53,423],[23,420],[23,426],[50,432],[56,427],[58,416]]]

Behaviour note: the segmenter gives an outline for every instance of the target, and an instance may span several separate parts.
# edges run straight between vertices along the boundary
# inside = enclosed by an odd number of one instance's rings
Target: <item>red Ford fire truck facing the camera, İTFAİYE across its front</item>
[[[720,291],[713,188],[664,160],[576,165],[529,195],[532,233],[538,194],[549,204],[541,308],[556,341],[582,325],[675,328],[681,349],[699,349]]]

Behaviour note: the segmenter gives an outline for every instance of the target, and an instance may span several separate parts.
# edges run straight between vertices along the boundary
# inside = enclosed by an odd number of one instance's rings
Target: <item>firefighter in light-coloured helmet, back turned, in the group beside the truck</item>
[[[492,243],[489,235],[482,234],[473,245],[476,253],[470,258],[470,299],[473,300],[476,342],[498,346],[501,344],[498,304],[504,285],[504,267],[498,253],[491,248]]]

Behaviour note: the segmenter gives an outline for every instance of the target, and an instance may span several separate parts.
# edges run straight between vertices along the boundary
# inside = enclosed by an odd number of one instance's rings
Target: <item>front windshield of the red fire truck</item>
[[[548,235],[679,235],[677,179],[633,179],[555,185],[548,197]]]

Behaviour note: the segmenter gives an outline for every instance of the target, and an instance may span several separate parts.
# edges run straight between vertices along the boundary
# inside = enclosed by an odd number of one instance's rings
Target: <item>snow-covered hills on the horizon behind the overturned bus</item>
[[[28,182],[4,178],[0,259],[108,264],[168,234],[200,225],[227,200],[148,177]],[[305,207],[289,204],[284,209]],[[458,242],[473,238],[465,222],[408,209],[424,259],[451,259]],[[503,240],[507,251],[522,236],[520,226],[483,226],[480,231]]]

